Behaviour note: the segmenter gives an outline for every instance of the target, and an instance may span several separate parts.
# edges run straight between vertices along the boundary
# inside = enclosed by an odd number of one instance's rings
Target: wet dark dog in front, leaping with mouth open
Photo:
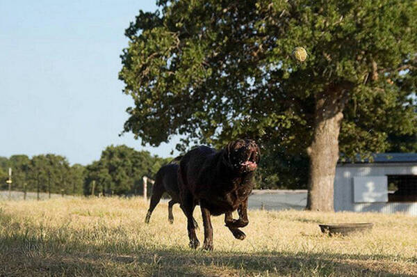
[[[245,227],[247,198],[254,187],[254,171],[260,159],[258,145],[252,140],[239,139],[226,148],[215,151],[199,146],[186,153],[179,164],[181,208],[188,219],[190,247],[197,248],[193,211],[199,203],[204,224],[204,249],[213,249],[211,215],[224,214],[224,222],[236,239],[245,239],[238,228]],[[239,219],[231,213],[238,209]]]

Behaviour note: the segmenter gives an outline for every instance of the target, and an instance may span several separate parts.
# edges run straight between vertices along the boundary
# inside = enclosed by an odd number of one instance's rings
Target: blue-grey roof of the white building
[[[376,153],[370,159],[361,159],[360,155],[355,157],[354,164],[399,164],[399,163],[417,163],[417,153]],[[341,157],[339,164],[352,164],[351,159]]]

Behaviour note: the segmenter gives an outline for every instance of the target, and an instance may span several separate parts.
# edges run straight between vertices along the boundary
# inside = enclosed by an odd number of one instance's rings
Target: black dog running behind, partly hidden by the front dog
[[[154,212],[156,205],[164,192],[171,196],[170,202],[168,202],[168,221],[174,223],[174,215],[172,214],[172,206],[179,203],[179,189],[178,189],[178,164],[174,164],[175,161],[179,161],[181,157],[177,157],[170,161],[170,164],[162,166],[156,173],[155,183],[152,187],[151,203],[149,205],[148,212],[146,214],[145,223],[149,223],[151,214]],[[197,222],[193,219],[195,227],[198,228]]]

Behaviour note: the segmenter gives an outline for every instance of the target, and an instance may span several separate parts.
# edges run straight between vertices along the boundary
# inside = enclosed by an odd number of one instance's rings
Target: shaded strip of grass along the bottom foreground
[[[0,210],[0,224],[10,224],[0,232],[0,276],[415,276],[396,274],[401,269],[391,255],[126,248],[117,241],[95,246],[67,242],[59,229],[49,230],[48,239],[15,232],[12,222]]]

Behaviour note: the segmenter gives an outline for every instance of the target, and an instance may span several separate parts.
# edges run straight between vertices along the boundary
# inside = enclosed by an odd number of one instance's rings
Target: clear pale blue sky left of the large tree
[[[0,156],[89,164],[111,144],[170,156],[177,139],[142,148],[118,136],[133,104],[117,79],[124,29],[140,9],[155,1],[0,0]]]

